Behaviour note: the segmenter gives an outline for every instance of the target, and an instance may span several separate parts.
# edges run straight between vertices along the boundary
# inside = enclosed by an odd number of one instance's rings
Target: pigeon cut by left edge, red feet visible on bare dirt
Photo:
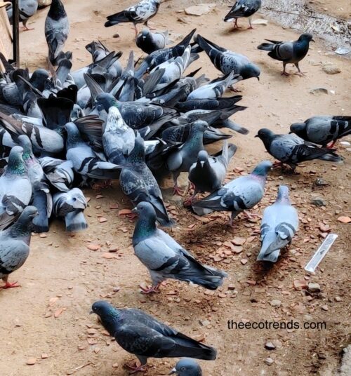
[[[8,276],[20,269],[29,256],[31,224],[37,215],[37,208],[27,206],[15,224],[0,231],[0,278],[5,282],[0,288],[20,287],[17,282],[9,282]]]

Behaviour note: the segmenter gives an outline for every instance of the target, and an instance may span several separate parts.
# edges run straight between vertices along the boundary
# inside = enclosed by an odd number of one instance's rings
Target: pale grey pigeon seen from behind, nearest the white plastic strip
[[[280,250],[291,243],[296,231],[298,231],[298,212],[291,206],[289,188],[281,185],[277,200],[263,212],[262,248],[257,260],[277,262]]]

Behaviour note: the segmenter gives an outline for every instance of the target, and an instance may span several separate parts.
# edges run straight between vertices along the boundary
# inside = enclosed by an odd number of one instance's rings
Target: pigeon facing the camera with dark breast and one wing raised
[[[191,205],[198,192],[213,192],[222,187],[228,165],[236,151],[235,145],[225,141],[222,152],[215,156],[208,156],[206,150],[201,150],[197,154],[197,162],[193,163],[189,170],[189,180],[194,184],[194,194],[186,203]]]

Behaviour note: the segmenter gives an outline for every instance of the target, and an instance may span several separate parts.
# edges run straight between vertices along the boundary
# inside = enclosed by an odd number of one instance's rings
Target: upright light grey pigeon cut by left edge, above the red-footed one
[[[5,173],[0,177],[0,230],[10,226],[32,199],[32,184],[22,154],[20,146],[11,149]]]

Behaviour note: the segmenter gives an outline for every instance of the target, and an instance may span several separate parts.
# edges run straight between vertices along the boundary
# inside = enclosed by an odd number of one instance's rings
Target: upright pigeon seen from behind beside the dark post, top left
[[[48,58],[52,65],[57,64],[69,33],[69,21],[61,0],[52,0],[45,20],[45,37],[48,43]]]

